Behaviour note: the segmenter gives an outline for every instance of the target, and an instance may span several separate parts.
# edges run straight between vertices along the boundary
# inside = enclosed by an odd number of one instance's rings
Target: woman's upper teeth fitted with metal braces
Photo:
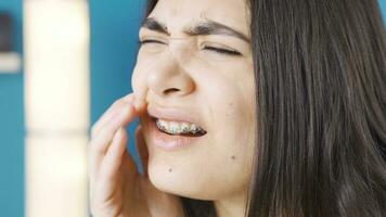
[[[202,131],[202,129],[195,124],[189,123],[177,123],[177,122],[168,122],[165,119],[157,119],[156,120],[157,127],[171,135],[179,135],[179,133],[197,133]]]

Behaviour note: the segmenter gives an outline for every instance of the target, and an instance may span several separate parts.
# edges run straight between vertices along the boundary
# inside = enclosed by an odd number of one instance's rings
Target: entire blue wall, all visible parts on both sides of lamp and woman
[[[143,0],[89,1],[91,11],[91,120],[131,91],[138,25]],[[386,0],[379,0],[386,22]],[[22,53],[22,0],[0,0],[15,21],[15,50]],[[23,74],[0,74],[0,216],[24,216]],[[132,135],[130,125],[129,133]],[[132,143],[132,137],[130,144]],[[133,146],[129,146],[133,153]],[[134,156],[138,159],[138,156]]]

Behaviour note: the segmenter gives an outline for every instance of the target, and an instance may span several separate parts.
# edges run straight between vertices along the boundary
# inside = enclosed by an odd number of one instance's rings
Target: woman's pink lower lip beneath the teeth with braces
[[[197,141],[204,137],[183,137],[167,135],[165,132],[159,131],[153,119],[150,122],[150,135],[151,143],[165,151],[173,151],[177,149],[189,148],[192,144],[197,143]]]

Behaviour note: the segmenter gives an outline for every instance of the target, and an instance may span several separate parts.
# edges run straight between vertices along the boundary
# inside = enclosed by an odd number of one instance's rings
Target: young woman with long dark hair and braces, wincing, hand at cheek
[[[93,216],[386,216],[376,0],[151,0],[139,38],[92,128]]]

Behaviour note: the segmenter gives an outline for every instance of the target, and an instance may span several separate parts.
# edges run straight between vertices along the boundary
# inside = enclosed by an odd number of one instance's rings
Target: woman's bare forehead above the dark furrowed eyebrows
[[[246,0],[159,0],[150,17],[168,29],[183,29],[197,22],[215,21],[249,35]]]

